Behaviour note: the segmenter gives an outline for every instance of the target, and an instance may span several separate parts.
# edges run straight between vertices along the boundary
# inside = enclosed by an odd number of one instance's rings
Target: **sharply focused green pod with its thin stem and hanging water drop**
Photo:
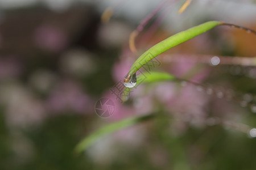
[[[229,25],[232,27],[243,29],[248,33],[254,33],[256,35],[256,31],[251,30],[249,28],[241,27],[234,24],[219,22],[219,21],[206,22],[206,23],[197,25],[196,27],[192,27],[185,31],[176,33],[175,35],[170,36],[167,39],[160,41],[158,44],[152,46],[133,63],[128,74],[126,75],[126,78],[124,79],[125,86],[129,88],[133,88],[136,85],[136,72],[139,69],[141,69],[141,67],[143,67],[143,65],[145,65],[151,59],[155,58],[159,54],[162,54],[166,50],[181,44],[182,42],[190,40],[193,37],[200,35],[201,33],[209,31],[210,29],[216,27],[217,25]]]

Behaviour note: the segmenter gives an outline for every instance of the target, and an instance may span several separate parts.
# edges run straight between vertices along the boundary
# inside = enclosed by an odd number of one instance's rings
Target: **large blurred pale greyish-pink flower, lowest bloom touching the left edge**
[[[46,117],[44,103],[19,83],[2,83],[0,102],[6,107],[6,122],[10,128],[39,125]]]

